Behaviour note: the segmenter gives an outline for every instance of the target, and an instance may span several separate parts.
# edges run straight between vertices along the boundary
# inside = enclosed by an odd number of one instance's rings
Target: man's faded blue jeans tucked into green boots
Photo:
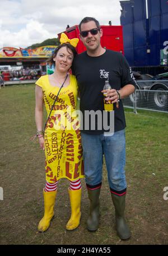
[[[127,188],[125,180],[125,129],[112,136],[86,134],[81,131],[86,184],[102,181],[103,155],[108,171],[109,187],[114,192]]]

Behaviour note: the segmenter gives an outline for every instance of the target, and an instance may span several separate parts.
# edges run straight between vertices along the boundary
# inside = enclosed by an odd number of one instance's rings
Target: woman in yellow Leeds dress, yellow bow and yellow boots
[[[60,43],[62,44],[55,49],[52,57],[48,60],[50,66],[53,64],[55,66],[54,73],[41,76],[36,81],[35,89],[37,136],[40,147],[45,150],[46,172],[46,184],[43,190],[44,217],[38,225],[40,232],[49,228],[50,221],[54,216],[57,184],[61,178],[67,178],[70,181],[68,193],[71,202],[71,218],[66,229],[76,229],[80,225],[81,218],[80,178],[84,178],[84,170],[81,134],[76,114],[78,87],[76,78],[68,73],[77,54],[75,47],[78,39],[69,40],[62,33]],[[60,89],[62,84],[63,87]],[[57,97],[57,100],[53,105],[55,97]],[[49,117],[44,132],[43,103]]]

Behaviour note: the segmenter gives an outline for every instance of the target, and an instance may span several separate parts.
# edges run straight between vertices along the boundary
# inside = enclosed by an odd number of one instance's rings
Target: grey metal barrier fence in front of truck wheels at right
[[[137,82],[139,83],[139,81]],[[146,82],[149,84],[151,81],[141,81],[141,85],[143,83],[143,90],[137,89],[132,95],[122,100],[124,106],[132,108],[134,113],[137,113],[138,109],[168,113],[168,91],[164,89],[146,90],[147,86],[144,84]],[[156,81],[154,82],[156,84]],[[153,88],[155,89],[155,87]]]

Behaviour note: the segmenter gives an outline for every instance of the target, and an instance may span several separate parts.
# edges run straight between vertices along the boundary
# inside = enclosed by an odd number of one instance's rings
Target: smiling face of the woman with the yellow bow
[[[63,46],[57,52],[57,55],[53,58],[55,62],[55,69],[60,72],[67,72],[72,66],[73,53],[72,50]]]

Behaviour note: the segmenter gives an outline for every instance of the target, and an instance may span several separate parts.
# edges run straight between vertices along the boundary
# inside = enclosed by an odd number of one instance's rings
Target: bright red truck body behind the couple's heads
[[[124,45],[123,45],[123,27],[122,26],[100,26],[102,29],[101,45],[106,49],[115,50],[116,52],[121,52],[124,54]],[[79,38],[80,39],[80,30],[77,25],[68,27],[66,31],[63,31],[69,39]],[[60,34],[58,38],[60,39]],[[82,53],[86,50],[82,41],[80,40],[77,45],[77,52]]]

